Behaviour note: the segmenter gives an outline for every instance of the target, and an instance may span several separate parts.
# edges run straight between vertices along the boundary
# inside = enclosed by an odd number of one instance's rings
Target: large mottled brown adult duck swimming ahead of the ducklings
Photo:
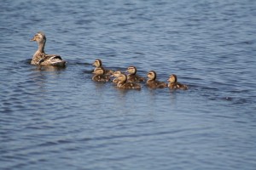
[[[66,65],[66,61],[61,59],[60,55],[56,54],[45,54],[44,46],[46,42],[46,37],[44,32],[39,31],[30,41],[38,42],[38,50],[33,55],[31,64],[32,65],[56,65],[63,66]]]

